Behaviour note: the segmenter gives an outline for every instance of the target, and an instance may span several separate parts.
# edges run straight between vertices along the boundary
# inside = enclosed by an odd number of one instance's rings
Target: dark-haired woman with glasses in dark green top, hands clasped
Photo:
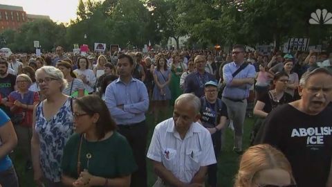
[[[93,105],[91,105],[93,103]],[[73,104],[75,132],[62,158],[65,186],[129,186],[137,169],[130,145],[116,132],[109,109],[96,95]]]

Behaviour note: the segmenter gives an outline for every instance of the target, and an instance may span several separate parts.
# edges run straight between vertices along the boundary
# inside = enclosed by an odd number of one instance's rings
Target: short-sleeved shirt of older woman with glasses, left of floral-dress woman
[[[26,94],[21,97],[19,91],[12,91],[12,93],[8,96],[9,102],[14,103],[15,100],[19,100],[24,105],[33,105],[35,102],[39,102],[39,95],[35,91],[28,91]],[[19,107],[13,114],[24,114],[24,121],[21,124],[24,127],[32,127],[33,126],[33,110],[32,109],[23,109]]]

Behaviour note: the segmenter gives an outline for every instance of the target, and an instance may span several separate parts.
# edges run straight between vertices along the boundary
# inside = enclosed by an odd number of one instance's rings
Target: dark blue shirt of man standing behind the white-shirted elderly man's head
[[[210,80],[216,82],[214,75],[208,72],[205,72],[203,75],[201,75],[198,71],[190,73],[185,78],[184,93],[193,92],[195,96],[201,98],[201,96],[204,95],[204,84]]]

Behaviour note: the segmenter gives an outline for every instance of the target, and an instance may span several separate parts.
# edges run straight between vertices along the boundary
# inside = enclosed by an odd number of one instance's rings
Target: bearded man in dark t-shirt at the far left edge
[[[7,72],[8,63],[0,59],[0,108],[10,116],[8,107],[8,95],[15,90],[16,76]]]

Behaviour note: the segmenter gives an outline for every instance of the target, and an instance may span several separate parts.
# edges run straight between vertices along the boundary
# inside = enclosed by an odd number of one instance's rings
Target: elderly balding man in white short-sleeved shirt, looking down
[[[159,123],[147,157],[160,186],[202,186],[209,165],[216,163],[210,132],[197,123],[201,101],[182,94],[174,105],[173,118]]]

